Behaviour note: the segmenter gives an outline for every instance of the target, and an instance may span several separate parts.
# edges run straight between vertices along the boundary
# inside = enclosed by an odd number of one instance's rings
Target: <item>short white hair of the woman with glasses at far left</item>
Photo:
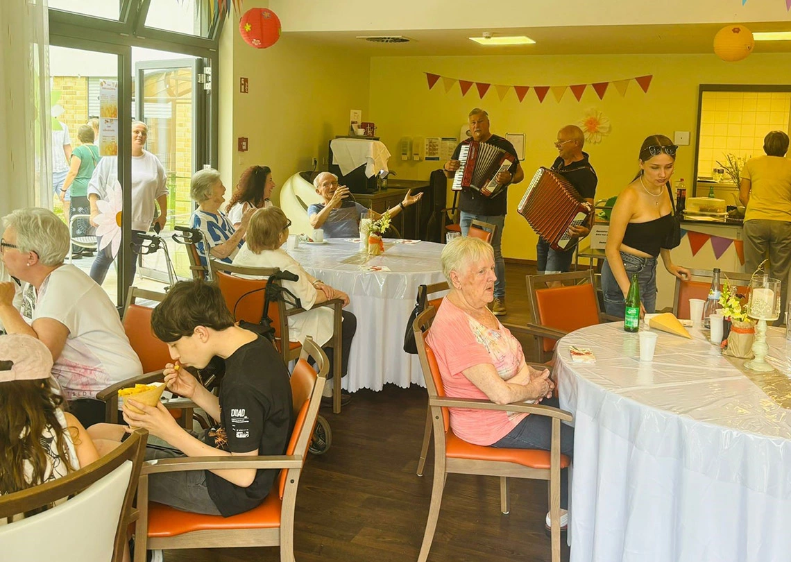
[[[6,228],[17,232],[18,250],[36,252],[44,266],[59,266],[71,245],[69,227],[49,209],[28,207],[3,217]]]

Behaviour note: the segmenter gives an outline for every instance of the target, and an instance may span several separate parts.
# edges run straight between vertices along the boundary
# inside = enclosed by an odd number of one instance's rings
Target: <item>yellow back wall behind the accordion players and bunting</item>
[[[472,107],[490,114],[492,131],[524,133],[528,179],[539,166],[549,166],[557,151],[552,145],[561,126],[576,123],[589,107],[604,111],[612,132],[600,145],[585,145],[591,164],[599,175],[596,198],[618,194],[637,171],[643,139],[654,133],[686,130],[691,145],[679,149],[674,180],[691,180],[698,85],[780,84],[791,55],[751,55],[743,62],[722,62],[715,55],[577,55],[577,56],[488,56],[488,57],[380,57],[371,61],[370,120],[390,152],[390,162],[399,178],[427,179],[439,168],[437,162],[402,162],[402,137],[458,137]],[[610,85],[604,100],[590,87],[581,102],[567,90],[558,103],[552,92],[539,104],[531,90],[522,103],[513,89],[500,101],[494,87],[483,100],[473,86],[464,98],[459,86],[445,93],[442,81],[429,90],[424,72],[471,81],[507,85],[570,85],[611,81],[653,74],[648,93],[632,81],[621,97]],[[787,81],[787,80],[786,80]],[[509,214],[505,222],[503,255],[536,258],[536,234],[516,208],[525,184],[509,189]]]

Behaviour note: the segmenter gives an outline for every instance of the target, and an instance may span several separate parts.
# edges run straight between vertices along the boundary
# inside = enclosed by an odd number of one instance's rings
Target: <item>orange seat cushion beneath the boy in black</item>
[[[189,513],[151,502],[149,537],[176,537],[197,530],[277,529],[280,526],[281,504],[276,487],[271,489],[263,504],[232,517]]]

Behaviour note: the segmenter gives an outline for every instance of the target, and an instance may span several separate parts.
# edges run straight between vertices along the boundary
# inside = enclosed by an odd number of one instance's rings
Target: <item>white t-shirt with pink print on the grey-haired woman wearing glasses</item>
[[[26,284],[22,295],[21,313],[28,323],[50,318],[69,330],[52,366],[64,398],[96,398],[100,390],[142,375],[110,297],[77,266],[60,266],[44,279],[38,294]]]

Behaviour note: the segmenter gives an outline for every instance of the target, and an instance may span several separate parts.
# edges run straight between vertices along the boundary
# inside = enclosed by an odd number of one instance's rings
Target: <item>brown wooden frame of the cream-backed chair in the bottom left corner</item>
[[[123,497],[121,516],[115,529],[112,555],[112,562],[120,562],[127,548],[127,527],[134,524],[138,519],[138,511],[132,507],[132,502],[134,500],[134,492],[138,488],[140,470],[143,466],[143,455],[146,453],[147,438],[148,432],[145,429],[136,429],[119,447],[116,447],[113,451],[88,466],[82,467],[80,470],[66,474],[66,476],[46,484],[0,496],[0,519],[32,511],[62,498],[74,496],[74,494],[82,492],[109,473],[112,473],[124,462],[131,461],[132,471],[129,477],[129,484],[127,485],[127,492]],[[86,530],[88,533],[89,531]],[[46,540],[46,537],[42,537],[42,539]],[[64,548],[68,548],[68,545],[64,545]]]

